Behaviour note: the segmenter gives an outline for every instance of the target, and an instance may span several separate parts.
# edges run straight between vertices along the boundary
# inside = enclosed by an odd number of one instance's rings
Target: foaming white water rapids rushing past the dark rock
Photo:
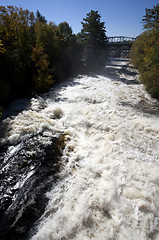
[[[135,70],[120,71],[127,63],[78,76],[10,120],[4,141],[40,131],[46,144],[66,138],[60,180],[33,240],[159,239],[159,117],[139,109],[155,100],[133,84]]]

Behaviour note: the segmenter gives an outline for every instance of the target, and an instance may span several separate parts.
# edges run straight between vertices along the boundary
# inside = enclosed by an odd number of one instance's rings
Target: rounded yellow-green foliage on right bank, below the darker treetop
[[[130,57],[146,90],[159,99],[159,31],[153,28],[141,34],[132,46]]]

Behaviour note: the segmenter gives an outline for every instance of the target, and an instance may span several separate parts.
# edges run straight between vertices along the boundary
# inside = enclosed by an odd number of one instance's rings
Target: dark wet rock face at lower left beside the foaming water
[[[0,239],[27,239],[47,204],[45,193],[57,180],[63,138],[43,134],[27,137],[15,146],[1,146]]]

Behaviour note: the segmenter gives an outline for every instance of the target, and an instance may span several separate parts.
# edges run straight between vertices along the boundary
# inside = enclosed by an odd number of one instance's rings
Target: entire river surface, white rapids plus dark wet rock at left
[[[158,237],[158,113],[118,59],[4,119],[1,238]]]

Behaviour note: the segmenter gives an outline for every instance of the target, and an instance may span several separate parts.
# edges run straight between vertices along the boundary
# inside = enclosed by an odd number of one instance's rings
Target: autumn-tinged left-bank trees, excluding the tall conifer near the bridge
[[[80,64],[68,23],[47,23],[39,11],[0,6],[0,105],[48,90]],[[78,56],[77,56],[78,55]]]

